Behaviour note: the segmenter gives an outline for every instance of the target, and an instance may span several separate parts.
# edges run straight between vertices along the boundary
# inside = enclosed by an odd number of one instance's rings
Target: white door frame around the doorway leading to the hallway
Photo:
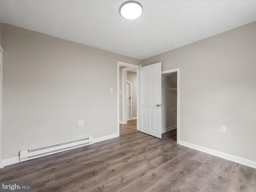
[[[140,90],[140,66],[141,65],[138,66],[138,65],[134,65],[134,64],[130,64],[130,63],[121,62],[121,61],[117,62],[117,134],[118,134],[118,137],[120,135],[120,130],[119,130],[119,122],[120,122],[120,114],[119,114],[120,113],[120,109],[119,109],[119,102],[120,102],[119,67],[120,66],[132,67],[132,68],[137,69],[137,80],[136,80],[137,85],[138,85],[137,90]],[[123,75],[122,75],[122,78],[123,78]],[[124,88],[124,86],[122,86],[122,89],[123,88]],[[122,90],[122,93],[123,93],[123,90]],[[122,115],[124,115],[124,114],[122,114]],[[137,91],[137,130],[140,130],[140,92],[139,91]]]

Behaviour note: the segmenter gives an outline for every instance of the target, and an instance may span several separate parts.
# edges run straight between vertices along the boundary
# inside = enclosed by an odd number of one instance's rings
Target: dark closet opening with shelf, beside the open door
[[[177,142],[178,71],[162,73],[162,138]]]

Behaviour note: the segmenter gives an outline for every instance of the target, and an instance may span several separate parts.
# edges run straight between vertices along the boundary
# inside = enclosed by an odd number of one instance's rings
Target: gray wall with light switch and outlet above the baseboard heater
[[[3,159],[117,133],[117,61],[140,60],[8,24],[2,46]]]

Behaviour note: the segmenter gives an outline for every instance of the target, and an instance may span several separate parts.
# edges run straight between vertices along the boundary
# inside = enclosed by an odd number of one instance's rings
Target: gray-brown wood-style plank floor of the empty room
[[[120,137],[13,164],[0,181],[31,181],[33,192],[256,192],[256,169],[120,125]]]

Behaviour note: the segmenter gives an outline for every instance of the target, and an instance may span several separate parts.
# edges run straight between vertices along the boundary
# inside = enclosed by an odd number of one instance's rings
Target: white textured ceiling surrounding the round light
[[[143,59],[256,20],[256,1],[138,0],[136,20],[123,2],[2,0],[0,22]]]

